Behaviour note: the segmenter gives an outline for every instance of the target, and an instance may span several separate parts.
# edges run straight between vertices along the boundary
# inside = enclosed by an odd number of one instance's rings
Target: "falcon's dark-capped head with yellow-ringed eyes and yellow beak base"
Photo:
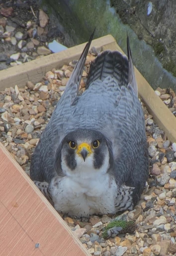
[[[111,146],[102,133],[89,129],[70,132],[56,152],[56,171],[68,176],[106,173],[113,165]]]

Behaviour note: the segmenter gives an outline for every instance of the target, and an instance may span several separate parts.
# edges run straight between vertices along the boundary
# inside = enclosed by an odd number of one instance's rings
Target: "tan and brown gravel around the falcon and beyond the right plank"
[[[89,64],[97,52],[88,54],[80,85],[85,90]],[[0,91],[0,142],[29,175],[31,154],[48,123],[58,99],[64,93],[76,61],[45,74],[43,82],[27,82],[24,88]],[[176,95],[170,89],[156,90],[157,95],[176,111]],[[60,214],[83,246],[93,256],[172,256],[176,253],[176,143],[154,123],[141,101],[145,114],[150,155],[150,175],[139,203],[120,218],[133,221],[133,233],[109,235],[103,232],[118,214],[74,219]]]

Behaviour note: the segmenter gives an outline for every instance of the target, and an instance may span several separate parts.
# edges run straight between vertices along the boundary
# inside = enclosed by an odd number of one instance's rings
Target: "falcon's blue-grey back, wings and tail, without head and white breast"
[[[57,174],[55,162],[60,159],[57,154],[67,134],[78,129],[96,130],[106,138],[112,152],[111,173],[117,184],[134,187],[136,202],[148,176],[148,150],[129,40],[127,38],[128,58],[118,51],[108,50],[96,57],[85,91],[77,96],[92,37],[35,148],[31,179],[50,182]]]

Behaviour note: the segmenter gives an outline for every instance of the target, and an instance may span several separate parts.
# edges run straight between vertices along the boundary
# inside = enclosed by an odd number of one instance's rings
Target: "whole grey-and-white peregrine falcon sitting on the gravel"
[[[58,212],[115,214],[140,199],[148,178],[145,119],[128,58],[99,53],[79,95],[93,34],[31,157],[30,177]]]

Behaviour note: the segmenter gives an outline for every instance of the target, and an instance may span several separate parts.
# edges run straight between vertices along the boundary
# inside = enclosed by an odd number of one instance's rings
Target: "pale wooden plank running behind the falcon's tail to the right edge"
[[[118,50],[124,54],[117,42],[112,42],[107,46],[102,47],[103,50]],[[132,53],[133,55],[133,53]],[[168,139],[171,142],[176,142],[176,117],[170,112],[169,108],[165,106],[163,101],[156,95],[154,89],[135,68],[135,75],[137,79],[139,97],[143,99],[148,112],[153,116],[157,125],[165,131]]]

